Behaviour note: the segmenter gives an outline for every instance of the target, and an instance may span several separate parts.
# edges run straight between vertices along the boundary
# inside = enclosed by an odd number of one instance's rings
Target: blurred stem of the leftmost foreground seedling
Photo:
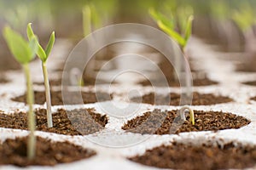
[[[29,160],[32,160],[36,155],[36,137],[35,137],[35,116],[33,113],[33,104],[34,104],[34,93],[32,89],[32,80],[30,77],[30,69],[28,64],[23,65],[23,69],[25,71],[26,76],[26,103],[29,107],[28,111],[28,129],[30,131],[29,133],[29,139],[27,142],[27,157]]]

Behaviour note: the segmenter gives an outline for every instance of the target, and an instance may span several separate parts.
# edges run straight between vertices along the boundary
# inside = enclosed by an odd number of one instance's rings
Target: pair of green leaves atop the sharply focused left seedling
[[[31,25],[32,25],[32,23],[29,23],[26,27],[26,34],[27,34],[27,37],[28,37],[29,41],[31,41],[33,37],[36,37],[33,30],[32,30]],[[55,43],[55,31],[53,31],[51,33],[51,35],[49,37],[49,42],[48,42],[45,50],[44,50],[44,48],[42,48],[42,46],[38,42],[38,38],[36,38],[36,43],[37,43],[37,46],[38,46],[37,54],[38,54],[39,59],[41,59],[43,62],[46,62],[46,60],[49,57],[49,53],[50,53],[50,51],[53,48],[53,45]]]

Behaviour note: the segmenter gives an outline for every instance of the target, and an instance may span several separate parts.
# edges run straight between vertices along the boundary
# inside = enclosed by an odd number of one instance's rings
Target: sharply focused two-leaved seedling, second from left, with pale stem
[[[36,37],[34,32],[32,31],[32,23],[27,25],[26,34],[28,39],[31,41],[33,37]],[[52,123],[52,115],[51,115],[51,101],[50,101],[50,90],[49,90],[49,78],[48,78],[48,71],[46,67],[46,61],[49,57],[49,53],[53,48],[55,43],[55,32],[53,31],[49,37],[49,42],[44,50],[42,46],[39,44],[38,39],[36,39],[38,51],[37,55],[38,58],[42,60],[42,68],[44,74],[44,88],[45,88],[45,98],[46,98],[46,105],[47,105],[47,125],[48,127],[53,127]]]

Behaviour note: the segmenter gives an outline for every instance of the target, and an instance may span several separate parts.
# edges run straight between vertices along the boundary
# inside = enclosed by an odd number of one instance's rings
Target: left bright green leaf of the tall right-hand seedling
[[[186,45],[186,41],[181,35],[179,35],[176,31],[170,29],[168,26],[166,26],[164,23],[162,23],[160,20],[157,22],[160,29],[165,31],[170,37],[172,37],[182,48]]]

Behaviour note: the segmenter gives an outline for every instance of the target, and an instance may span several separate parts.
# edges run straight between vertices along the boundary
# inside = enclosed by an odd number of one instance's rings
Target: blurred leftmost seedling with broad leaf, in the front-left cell
[[[28,111],[28,129],[30,130],[29,139],[27,142],[27,156],[32,160],[36,152],[35,131],[35,116],[33,113],[34,94],[32,90],[32,80],[30,77],[29,62],[34,59],[37,51],[37,38],[32,37],[29,42],[20,36],[19,33],[13,31],[9,26],[4,27],[3,37],[6,40],[9,50],[14,55],[15,59],[23,66],[26,77],[26,102],[29,106]]]

